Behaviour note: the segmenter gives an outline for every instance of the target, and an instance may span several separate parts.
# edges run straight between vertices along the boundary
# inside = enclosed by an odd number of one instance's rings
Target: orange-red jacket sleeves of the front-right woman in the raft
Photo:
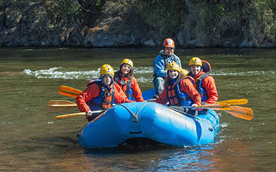
[[[186,92],[193,102],[197,105],[201,105],[201,96],[195,89],[193,83],[189,79],[182,79],[179,82],[179,87],[181,92]],[[156,103],[166,105],[168,103],[167,89],[164,89],[163,92],[159,95],[159,98],[154,100]]]

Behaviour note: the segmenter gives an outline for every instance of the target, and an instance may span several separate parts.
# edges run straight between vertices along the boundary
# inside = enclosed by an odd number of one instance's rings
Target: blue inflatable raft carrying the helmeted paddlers
[[[123,103],[88,122],[79,133],[86,148],[117,147],[131,138],[147,138],[170,147],[213,142],[219,128],[215,111],[197,117],[158,103]]]

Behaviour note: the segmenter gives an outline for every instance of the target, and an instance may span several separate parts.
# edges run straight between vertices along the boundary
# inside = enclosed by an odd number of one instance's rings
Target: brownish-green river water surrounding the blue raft
[[[152,63],[159,49],[1,48],[0,171],[275,171],[276,50],[198,49],[175,51],[182,67],[199,56],[212,65],[219,101],[248,99],[253,120],[224,111],[215,142],[197,147],[83,149],[77,142],[84,116],[46,111],[49,100],[74,98],[61,85],[85,89],[99,67],[115,70],[123,58],[134,61],[142,91],[153,87]]]

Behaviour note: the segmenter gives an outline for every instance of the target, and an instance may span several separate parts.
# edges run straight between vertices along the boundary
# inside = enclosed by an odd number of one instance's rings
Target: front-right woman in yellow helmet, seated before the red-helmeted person
[[[162,105],[169,103],[169,106],[175,109],[195,115],[194,109],[201,105],[201,97],[193,85],[194,79],[190,76],[185,76],[188,71],[181,69],[177,63],[170,63],[167,71],[168,77],[165,79],[165,89],[154,102]],[[192,106],[193,112],[189,109],[181,108],[182,106]]]

